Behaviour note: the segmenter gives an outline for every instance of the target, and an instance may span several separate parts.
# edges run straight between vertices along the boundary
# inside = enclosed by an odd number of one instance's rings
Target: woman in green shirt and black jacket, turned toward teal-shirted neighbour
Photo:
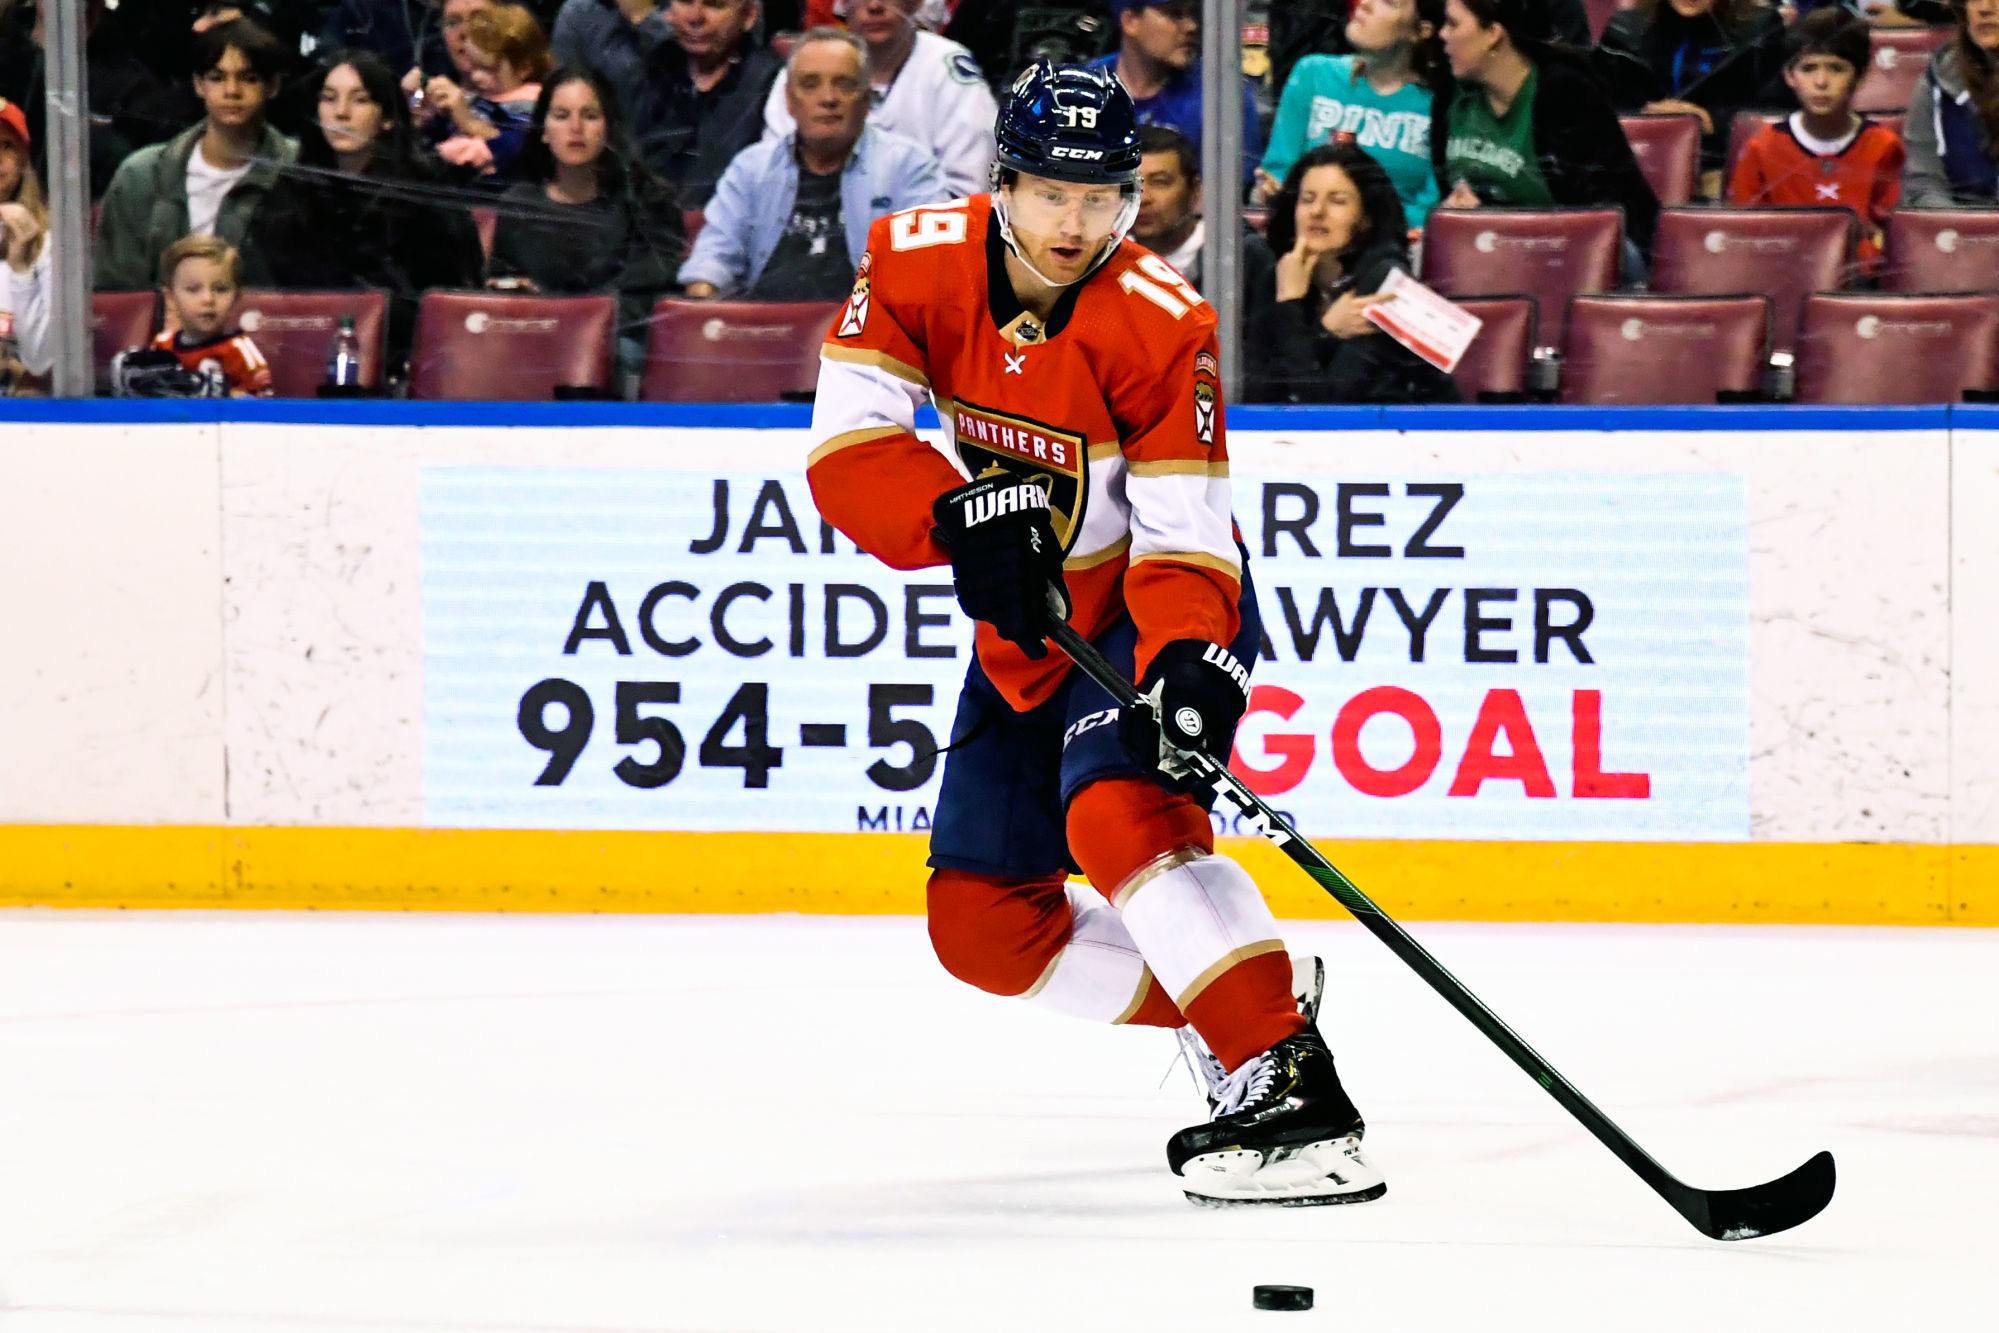
[[[1617,206],[1651,250],[1659,198],[1587,60],[1547,40],[1545,0],[1445,0],[1443,54],[1457,86],[1429,128],[1439,208]]]

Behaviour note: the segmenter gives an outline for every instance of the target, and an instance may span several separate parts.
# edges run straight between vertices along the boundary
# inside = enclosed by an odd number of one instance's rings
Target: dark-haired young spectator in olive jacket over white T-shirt
[[[266,124],[284,68],[270,34],[238,18],[198,32],[194,52],[194,88],[208,114],[118,166],[94,246],[100,290],[152,286],[160,256],[182,236],[242,242],[250,216],[298,156],[298,144]]]

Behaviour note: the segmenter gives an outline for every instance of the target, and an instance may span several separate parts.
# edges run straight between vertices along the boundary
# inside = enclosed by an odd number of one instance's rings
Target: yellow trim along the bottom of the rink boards
[[[1345,917],[1261,839],[1279,917]],[[1321,841],[1409,921],[1999,925],[1999,847]],[[924,833],[0,825],[0,905],[922,913]]]

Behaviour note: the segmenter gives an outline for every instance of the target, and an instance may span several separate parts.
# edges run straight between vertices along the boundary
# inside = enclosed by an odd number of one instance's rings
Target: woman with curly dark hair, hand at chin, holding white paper
[[[1299,158],[1271,200],[1275,302],[1251,316],[1247,402],[1461,402],[1457,384],[1375,328],[1369,306],[1393,268],[1409,268],[1409,224],[1395,182],[1357,144]]]

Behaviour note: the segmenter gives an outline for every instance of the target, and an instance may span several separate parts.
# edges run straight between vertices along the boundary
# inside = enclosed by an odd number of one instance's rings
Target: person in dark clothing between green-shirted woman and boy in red
[[[1735,112],[1783,68],[1783,18],[1761,0],[1637,0],[1597,50],[1617,110],[1697,116],[1701,168],[1719,172]]]

